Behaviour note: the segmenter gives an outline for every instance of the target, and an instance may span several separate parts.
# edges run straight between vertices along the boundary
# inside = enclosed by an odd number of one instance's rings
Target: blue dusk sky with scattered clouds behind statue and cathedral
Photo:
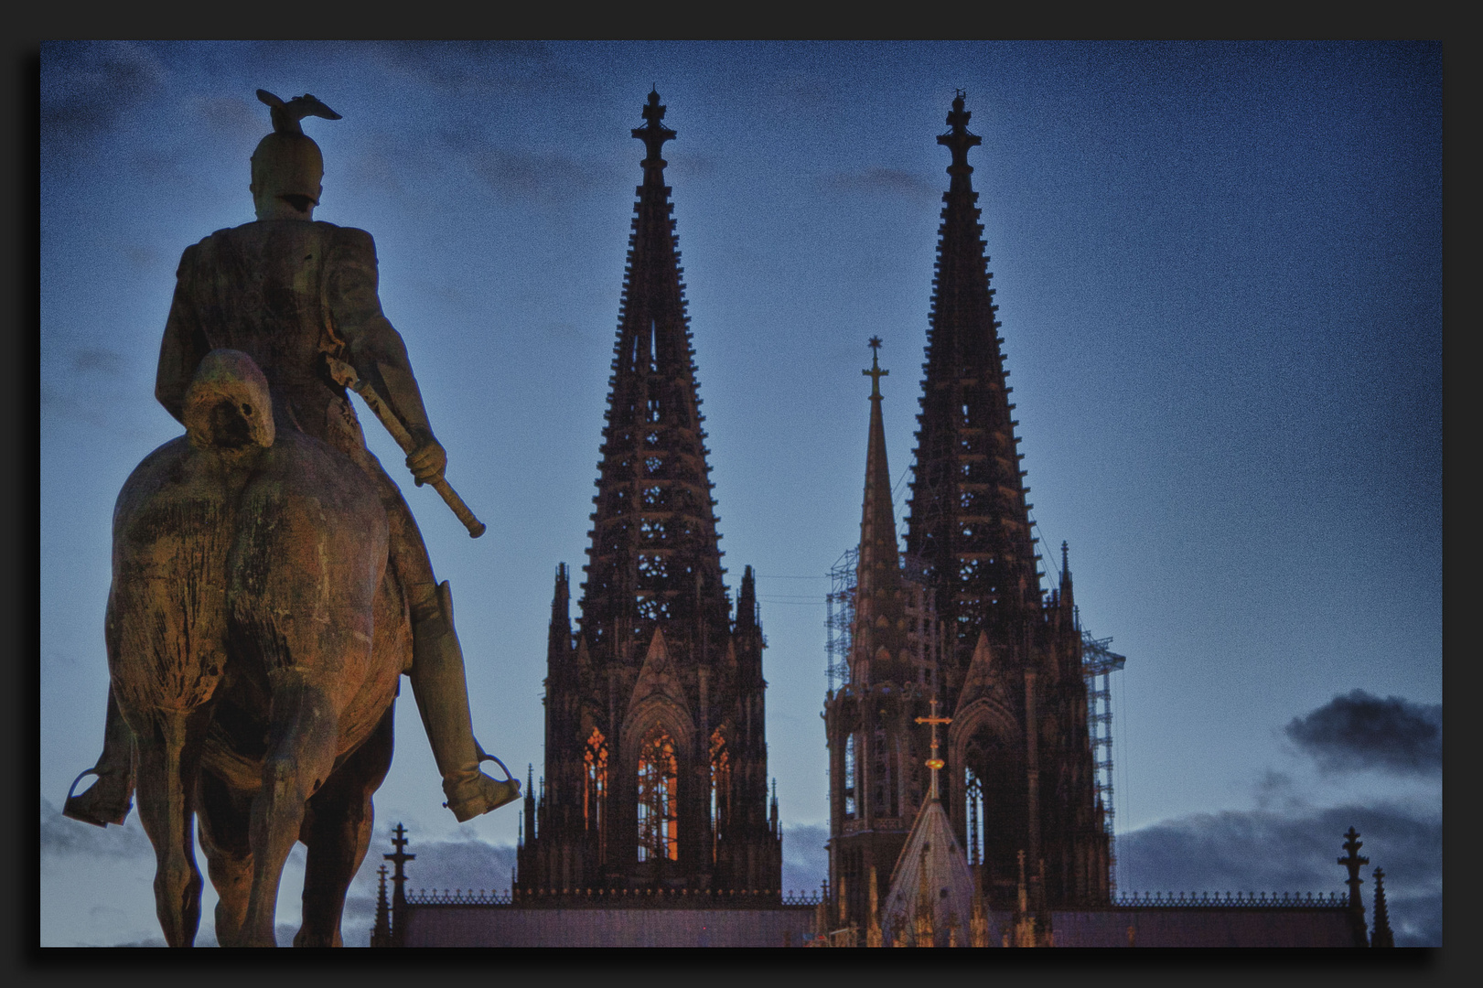
[[[785,887],[825,877],[826,573],[859,540],[872,335],[906,530],[962,89],[1046,586],[1069,541],[1084,626],[1127,656],[1118,887],[1341,892],[1352,823],[1397,941],[1440,945],[1440,45],[513,42],[42,47],[42,943],[160,942],[136,814],[59,807],[102,742],[113,501],[182,432],[153,396],[175,266],[252,220],[254,90],[344,117],[304,123],[316,218],[375,237],[488,534],[357,411],[452,584],[475,731],[523,780],[651,86],[733,593],[758,573]],[[518,806],[457,825],[409,690],[396,728],[347,943],[397,822],[414,889],[510,884]]]

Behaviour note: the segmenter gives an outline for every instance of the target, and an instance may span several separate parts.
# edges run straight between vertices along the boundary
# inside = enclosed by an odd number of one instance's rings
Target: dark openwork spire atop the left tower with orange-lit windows
[[[724,628],[728,620],[673,205],[660,157],[675,132],[663,117],[651,92],[645,125],[633,131],[647,150],[644,184],[633,206],[583,584],[581,632],[604,657],[638,641],[647,645],[655,622]]]

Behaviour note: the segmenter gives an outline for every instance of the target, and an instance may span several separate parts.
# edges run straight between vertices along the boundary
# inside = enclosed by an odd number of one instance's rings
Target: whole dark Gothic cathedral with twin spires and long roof
[[[657,92],[642,113],[581,616],[574,629],[561,565],[518,877],[406,895],[399,825],[372,945],[1388,945],[1379,871],[1364,929],[1352,828],[1347,900],[1112,896],[1087,678],[1105,696],[1121,657],[1084,636],[1065,546],[1059,586],[1041,586],[961,93],[937,138],[952,162],[905,553],[872,338],[848,644],[825,702],[829,878],[783,896],[756,587],[747,567],[733,607],[660,156],[675,132]]]

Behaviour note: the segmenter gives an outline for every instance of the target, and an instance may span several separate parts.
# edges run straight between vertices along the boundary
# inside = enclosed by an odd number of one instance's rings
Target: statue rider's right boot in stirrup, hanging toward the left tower
[[[411,679],[443,776],[443,795],[458,822],[518,800],[519,782],[497,782],[479,771],[485,754],[473,737],[463,648],[454,633],[454,601],[446,582],[437,584],[437,608],[420,620],[414,617]]]

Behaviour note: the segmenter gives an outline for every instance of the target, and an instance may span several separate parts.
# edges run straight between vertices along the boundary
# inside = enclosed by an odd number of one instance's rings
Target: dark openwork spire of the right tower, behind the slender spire
[[[962,93],[952,101],[952,151],[943,194],[927,331],[927,378],[916,433],[916,464],[906,552],[937,592],[937,613],[957,629],[960,663],[980,630],[1011,628],[1038,611],[1040,576],[1029,534],[1028,491],[1014,451],[1014,405],[1005,386],[1003,340],[994,313],[979,194],[968,148],[982,142],[967,129]]]

